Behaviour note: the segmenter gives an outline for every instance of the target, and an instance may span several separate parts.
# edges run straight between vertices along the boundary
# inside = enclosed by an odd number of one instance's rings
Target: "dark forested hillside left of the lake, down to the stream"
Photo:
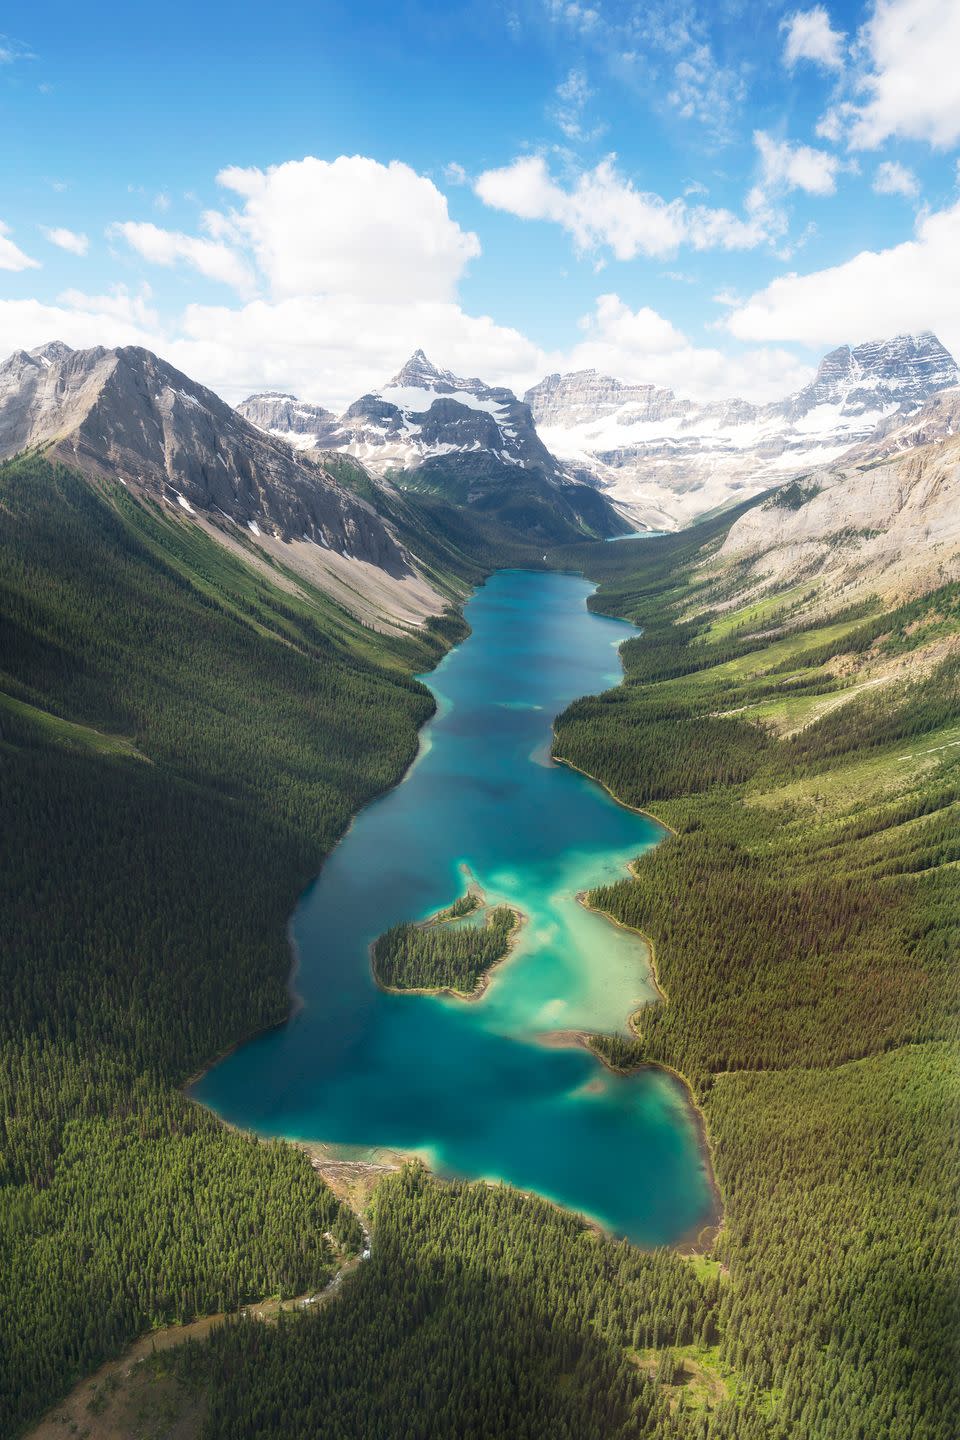
[[[286,917],[458,634],[363,631],[119,485],[0,467],[0,1431],[360,1227],[178,1086],[288,1009]]]

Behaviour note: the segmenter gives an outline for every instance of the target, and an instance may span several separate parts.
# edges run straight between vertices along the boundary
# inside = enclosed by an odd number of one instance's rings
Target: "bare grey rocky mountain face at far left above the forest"
[[[0,366],[0,458],[29,446],[253,534],[409,570],[381,517],[318,459],[265,435],[148,350],[56,341],[10,356]]]

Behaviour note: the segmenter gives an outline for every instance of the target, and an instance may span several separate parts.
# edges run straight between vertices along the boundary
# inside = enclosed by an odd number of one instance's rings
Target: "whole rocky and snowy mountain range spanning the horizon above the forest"
[[[957,366],[928,333],[832,351],[763,408],[596,372],[520,400],[422,350],[340,416],[276,392],[233,409],[135,347],[53,341],[0,366],[0,459],[39,448],[119,481],[393,629],[439,615],[471,564],[609,539],[625,516],[675,528],[764,490],[724,547],[747,586],[953,575],[959,433]]]

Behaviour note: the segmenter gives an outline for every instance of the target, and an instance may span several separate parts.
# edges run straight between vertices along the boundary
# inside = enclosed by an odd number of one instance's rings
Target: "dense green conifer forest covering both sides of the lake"
[[[711,1253],[410,1166],[334,1300],[183,1348],[206,1440],[953,1440],[957,593],[741,602],[698,567],[730,518],[550,556],[642,626],[556,752],[672,829],[590,897],[664,992],[594,1044],[691,1084]],[[435,543],[438,575],[497,556],[453,520]],[[462,634],[371,635],[308,592],[121,487],[0,467],[4,1434],[153,1325],[317,1289],[361,1246],[299,1151],[178,1090],[286,1014],[295,896]]]

